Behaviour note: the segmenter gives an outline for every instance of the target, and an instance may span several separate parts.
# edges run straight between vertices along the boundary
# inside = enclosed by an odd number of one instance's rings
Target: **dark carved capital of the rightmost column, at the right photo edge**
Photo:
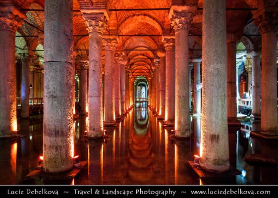
[[[254,24],[259,27],[261,34],[271,31],[276,32],[278,26],[278,12],[264,12],[255,18]]]

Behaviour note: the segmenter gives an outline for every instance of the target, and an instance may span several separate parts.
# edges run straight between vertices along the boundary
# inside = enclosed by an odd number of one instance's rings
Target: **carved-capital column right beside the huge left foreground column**
[[[88,138],[103,137],[102,37],[107,24],[105,13],[84,13],[89,32]],[[81,85],[82,86],[82,85]]]

